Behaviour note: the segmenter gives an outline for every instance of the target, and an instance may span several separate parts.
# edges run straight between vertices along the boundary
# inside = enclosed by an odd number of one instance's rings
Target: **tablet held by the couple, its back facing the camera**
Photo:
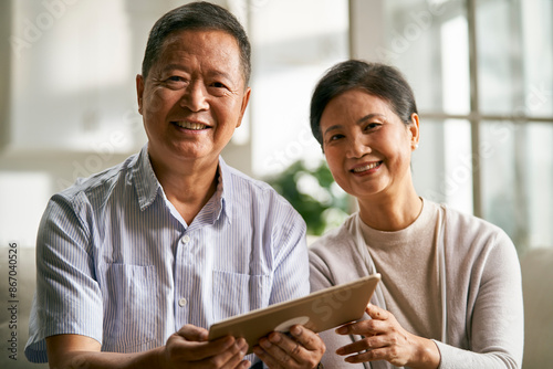
[[[243,337],[251,352],[259,339],[271,331],[288,333],[300,324],[320,333],[358,320],[380,281],[379,274],[314,292],[307,296],[237,315],[209,328],[209,339]]]

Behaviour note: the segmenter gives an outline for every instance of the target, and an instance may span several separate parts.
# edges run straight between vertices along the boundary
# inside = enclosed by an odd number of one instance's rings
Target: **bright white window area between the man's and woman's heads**
[[[312,91],[348,57],[346,0],[250,0],[252,171],[274,176],[299,159],[323,159],[311,134]]]

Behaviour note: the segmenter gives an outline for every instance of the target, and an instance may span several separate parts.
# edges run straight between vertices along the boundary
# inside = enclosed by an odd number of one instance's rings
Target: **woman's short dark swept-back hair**
[[[413,89],[396,67],[358,60],[338,63],[326,71],[311,98],[311,130],[321,146],[321,117],[326,105],[334,97],[351,89],[361,89],[386,101],[406,125],[411,123],[413,113],[417,113]]]

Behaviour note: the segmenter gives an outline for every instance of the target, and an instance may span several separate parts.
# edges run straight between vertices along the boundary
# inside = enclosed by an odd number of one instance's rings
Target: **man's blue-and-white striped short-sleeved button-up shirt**
[[[52,335],[136,352],[165,345],[185,324],[208,328],[310,291],[305,223],[271,187],[221,158],[216,193],[186,224],[147,146],[52,197],[36,267],[25,347],[35,362],[46,360]]]

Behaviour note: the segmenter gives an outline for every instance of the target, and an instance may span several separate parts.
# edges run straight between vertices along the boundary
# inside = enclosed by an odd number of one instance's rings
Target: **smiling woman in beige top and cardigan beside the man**
[[[413,91],[394,67],[347,61],[319,82],[311,128],[358,211],[311,249],[317,291],[380,273],[363,319],[321,334],[327,368],[519,368],[520,265],[509,236],[420,198]]]

